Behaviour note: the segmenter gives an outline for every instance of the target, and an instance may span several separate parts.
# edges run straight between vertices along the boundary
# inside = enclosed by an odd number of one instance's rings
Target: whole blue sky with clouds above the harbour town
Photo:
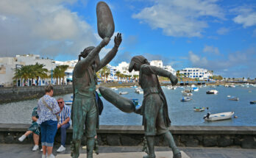
[[[92,0],[1,0],[0,57],[40,54],[77,60],[97,46]],[[115,33],[123,41],[110,65],[135,55],[163,60],[175,70],[206,68],[224,77],[256,77],[255,0],[112,0]]]

